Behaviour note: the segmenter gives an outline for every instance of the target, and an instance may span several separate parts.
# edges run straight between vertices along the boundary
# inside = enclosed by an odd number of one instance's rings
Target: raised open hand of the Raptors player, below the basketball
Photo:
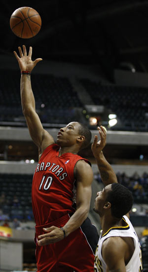
[[[27,50],[25,45],[23,45],[23,51],[20,46],[18,47],[18,49],[19,49],[20,57],[18,56],[16,51],[14,51],[14,55],[19,63],[20,70],[31,72],[34,69],[34,67],[37,65],[37,63],[41,61],[42,59],[38,58],[35,61],[32,61],[32,46],[30,46],[29,48],[28,55],[27,55]]]

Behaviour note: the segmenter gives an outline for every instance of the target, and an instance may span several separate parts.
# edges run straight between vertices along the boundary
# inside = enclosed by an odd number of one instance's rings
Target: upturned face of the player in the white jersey
[[[93,210],[98,213],[100,216],[104,213],[104,205],[107,203],[107,195],[111,190],[111,184],[103,188],[102,191],[97,193],[95,198],[94,208]]]

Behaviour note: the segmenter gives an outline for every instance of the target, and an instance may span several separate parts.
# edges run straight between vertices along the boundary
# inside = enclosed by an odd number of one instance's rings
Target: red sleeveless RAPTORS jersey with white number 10
[[[59,146],[48,146],[42,153],[33,177],[32,205],[37,226],[48,224],[75,211],[74,166],[79,155],[59,156]],[[89,163],[87,159],[84,159]]]

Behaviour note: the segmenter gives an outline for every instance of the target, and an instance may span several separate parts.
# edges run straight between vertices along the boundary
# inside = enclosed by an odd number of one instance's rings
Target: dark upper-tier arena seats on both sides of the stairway
[[[1,72],[0,79],[0,124],[26,126],[21,109],[19,72]],[[95,105],[104,105],[117,115],[119,122],[111,130],[148,131],[146,88],[102,85],[85,78],[79,82]],[[67,124],[79,119],[77,108],[85,108],[68,78],[32,74],[32,87],[42,123]]]

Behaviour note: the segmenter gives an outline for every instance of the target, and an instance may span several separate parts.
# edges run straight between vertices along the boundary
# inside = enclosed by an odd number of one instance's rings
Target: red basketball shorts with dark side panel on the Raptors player
[[[36,227],[37,237],[43,234],[42,228],[63,227],[70,216]],[[36,247],[37,272],[93,272],[94,252],[99,235],[95,226],[87,218],[82,226],[63,240]]]

